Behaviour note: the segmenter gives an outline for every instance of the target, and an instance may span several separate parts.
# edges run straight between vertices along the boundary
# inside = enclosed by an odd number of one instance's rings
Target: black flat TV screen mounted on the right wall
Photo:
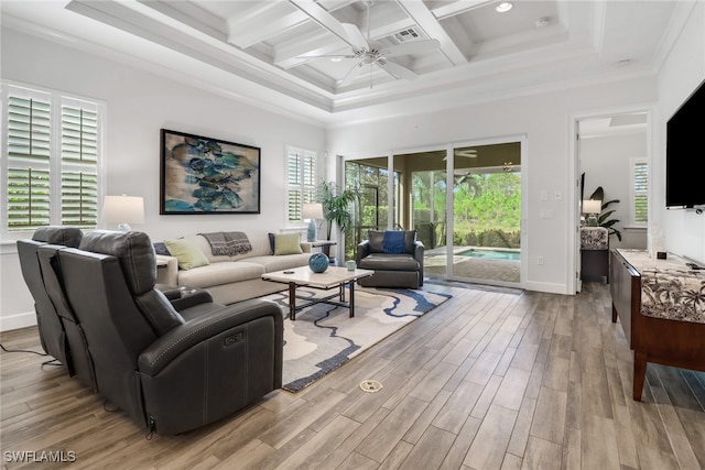
[[[705,204],[705,81],[666,123],[665,205]]]

